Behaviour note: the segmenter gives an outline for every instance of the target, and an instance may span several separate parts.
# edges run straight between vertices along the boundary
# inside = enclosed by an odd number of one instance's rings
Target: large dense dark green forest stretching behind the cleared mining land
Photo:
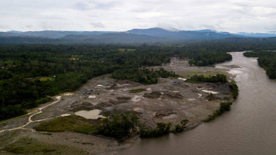
[[[254,43],[255,42],[255,43]],[[275,41],[225,39],[165,44],[0,44],[0,120],[26,113],[51,101],[49,96],[72,92],[88,79],[112,73],[145,85],[159,77],[177,77],[171,71],[148,70],[171,58],[206,66],[231,60],[230,51],[275,50]],[[122,50],[126,49],[126,50]],[[128,50],[131,49],[131,50]],[[194,63],[197,62],[197,63]]]

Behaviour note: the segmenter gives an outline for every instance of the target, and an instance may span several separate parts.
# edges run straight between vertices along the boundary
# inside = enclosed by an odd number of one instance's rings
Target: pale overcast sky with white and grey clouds
[[[1,0],[0,31],[276,31],[275,0]]]

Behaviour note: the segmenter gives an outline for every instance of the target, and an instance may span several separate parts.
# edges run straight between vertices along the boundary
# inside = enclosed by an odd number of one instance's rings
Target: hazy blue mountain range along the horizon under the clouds
[[[129,31],[7,31],[0,32],[0,42],[146,42],[166,40],[208,40],[225,38],[268,38],[276,37],[276,32],[229,33],[205,29],[183,31],[175,28],[166,30],[155,27],[132,29]]]

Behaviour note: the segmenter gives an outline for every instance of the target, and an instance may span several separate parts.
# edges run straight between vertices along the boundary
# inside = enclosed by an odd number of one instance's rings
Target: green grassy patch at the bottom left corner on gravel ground
[[[68,147],[65,145],[49,144],[28,137],[17,140],[1,151],[15,154],[87,154],[87,152],[82,149]]]

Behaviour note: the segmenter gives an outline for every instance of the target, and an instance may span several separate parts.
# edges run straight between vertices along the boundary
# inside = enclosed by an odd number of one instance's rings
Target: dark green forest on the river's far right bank
[[[270,79],[276,79],[276,52],[255,50],[243,53],[246,57],[258,57],[259,66],[266,70]]]

